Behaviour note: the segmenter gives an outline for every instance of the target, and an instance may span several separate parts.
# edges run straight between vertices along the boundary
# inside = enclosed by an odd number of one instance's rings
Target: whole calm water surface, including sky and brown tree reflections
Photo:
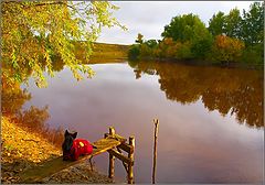
[[[151,183],[153,123],[158,133],[158,183],[261,183],[263,181],[263,72],[172,63],[91,65],[92,79],[76,81],[68,68],[31,81],[31,100],[49,106],[52,128],[96,141],[113,126],[136,137],[136,183]],[[108,155],[94,159],[107,174]],[[115,175],[126,179],[116,160]]]

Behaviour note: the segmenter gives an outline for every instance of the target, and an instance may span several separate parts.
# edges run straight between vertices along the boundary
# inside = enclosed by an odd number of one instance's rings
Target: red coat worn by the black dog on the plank
[[[75,139],[71,148],[71,157],[78,160],[80,155],[89,155],[93,152],[93,146],[87,140]]]

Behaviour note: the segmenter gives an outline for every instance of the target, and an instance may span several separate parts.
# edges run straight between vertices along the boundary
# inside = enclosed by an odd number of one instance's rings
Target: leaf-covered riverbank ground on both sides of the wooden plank
[[[29,132],[2,116],[1,183],[19,183],[24,171],[62,155],[61,149],[38,133]],[[95,167],[94,167],[95,168]],[[113,183],[106,175],[77,164],[49,176],[42,183]]]

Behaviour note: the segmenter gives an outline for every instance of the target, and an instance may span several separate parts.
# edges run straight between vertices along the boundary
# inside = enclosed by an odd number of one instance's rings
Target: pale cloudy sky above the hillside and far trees
[[[114,44],[132,44],[138,33],[144,40],[159,40],[163,26],[169,24],[173,17],[186,13],[198,14],[208,26],[209,20],[219,11],[229,13],[237,8],[248,10],[253,1],[113,1],[119,7],[114,17],[128,29],[123,31],[115,26],[103,29],[97,42]]]

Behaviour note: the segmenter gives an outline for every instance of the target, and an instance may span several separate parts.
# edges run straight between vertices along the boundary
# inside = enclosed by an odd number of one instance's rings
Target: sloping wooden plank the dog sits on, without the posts
[[[42,178],[53,175],[56,172],[60,172],[64,168],[73,166],[77,163],[81,163],[85,160],[89,160],[91,157],[104,153],[113,148],[120,145],[125,142],[126,139],[123,137],[107,135],[104,139],[100,139],[93,143],[97,149],[93,150],[91,155],[81,156],[77,161],[63,161],[63,156],[56,157],[54,160],[47,161],[36,167],[30,168],[20,175],[21,183],[38,183]]]

